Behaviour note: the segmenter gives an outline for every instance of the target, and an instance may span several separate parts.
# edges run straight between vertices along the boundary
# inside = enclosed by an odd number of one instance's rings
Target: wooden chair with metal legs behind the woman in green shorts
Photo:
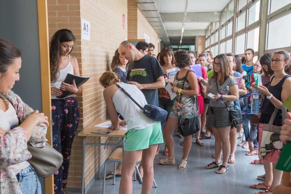
[[[137,159],[136,161],[136,165],[135,165],[135,168],[134,168],[134,181],[136,181],[136,172],[139,176],[139,179],[141,180],[142,182],[142,178],[141,178],[141,174],[139,172],[139,168],[138,168],[138,165],[141,164],[141,156],[142,156],[142,153],[141,155],[139,155],[139,158]],[[123,161],[123,153],[122,153],[122,148],[116,148],[109,156],[108,158],[106,159],[105,163],[104,163],[104,174],[103,174],[103,188],[102,188],[102,193],[105,194],[105,176],[106,176],[106,165],[107,165],[107,162],[109,161],[113,161],[114,162],[114,170],[113,170],[113,185],[115,184],[115,169],[116,169],[116,162],[119,162],[119,163],[122,163]],[[155,179],[154,179],[154,186],[155,188],[157,188],[157,184],[155,182]]]

